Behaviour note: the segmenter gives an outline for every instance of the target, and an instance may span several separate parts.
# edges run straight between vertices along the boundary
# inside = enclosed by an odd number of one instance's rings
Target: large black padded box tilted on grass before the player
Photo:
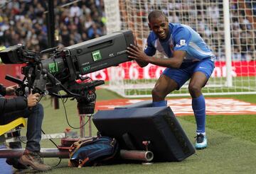
[[[146,150],[150,141],[154,161],[183,161],[195,153],[169,107],[99,110],[92,118],[102,136],[114,137],[121,149]]]

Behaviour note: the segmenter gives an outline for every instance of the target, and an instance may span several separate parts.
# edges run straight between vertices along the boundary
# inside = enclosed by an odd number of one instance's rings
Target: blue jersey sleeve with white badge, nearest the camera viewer
[[[191,36],[191,32],[188,30],[188,28],[177,28],[176,32],[174,33],[174,51],[187,51]]]

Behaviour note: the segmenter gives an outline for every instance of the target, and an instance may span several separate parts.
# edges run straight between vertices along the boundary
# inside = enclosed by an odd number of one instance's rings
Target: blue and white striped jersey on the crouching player
[[[153,56],[156,50],[169,58],[173,57],[175,50],[186,51],[183,62],[200,61],[206,58],[214,62],[215,59],[215,55],[202,37],[188,25],[179,23],[169,23],[169,36],[165,40],[159,40],[157,35],[151,31],[144,52],[148,56]]]

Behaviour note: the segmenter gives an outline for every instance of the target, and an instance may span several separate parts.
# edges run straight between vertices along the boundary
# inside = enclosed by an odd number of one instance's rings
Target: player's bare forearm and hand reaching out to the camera
[[[139,50],[139,47],[130,45],[130,47],[127,48],[127,52],[129,53],[129,58],[135,59],[139,62],[146,62],[150,64],[155,64],[158,66],[164,66],[164,67],[171,67],[178,69],[182,62],[184,57],[186,56],[186,51],[174,51],[173,57],[171,59],[159,59],[156,57],[149,57],[144,52]]]

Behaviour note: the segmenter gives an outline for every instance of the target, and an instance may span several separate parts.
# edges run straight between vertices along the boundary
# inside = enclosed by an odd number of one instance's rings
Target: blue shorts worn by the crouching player
[[[213,73],[213,69],[214,62],[210,59],[203,59],[198,62],[183,62],[179,69],[166,68],[163,74],[176,81],[179,89],[188,79],[191,79],[191,76],[196,71],[201,71],[203,74],[206,74],[207,79],[209,79],[210,75]]]

